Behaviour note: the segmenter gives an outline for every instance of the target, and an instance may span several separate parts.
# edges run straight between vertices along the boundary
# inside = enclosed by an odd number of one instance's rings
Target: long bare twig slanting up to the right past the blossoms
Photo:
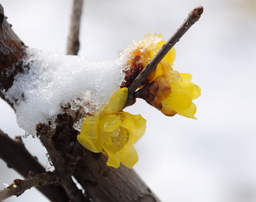
[[[134,82],[128,87],[128,97],[123,108],[131,106],[135,102],[133,96],[137,88],[143,83],[143,81],[148,77],[148,75],[156,69],[157,65],[164,56],[171,50],[171,48],[180,40],[180,38],[188,31],[188,29],[199,20],[201,14],[203,13],[203,6],[195,7],[180,25],[180,27],[174,32],[174,34],[166,41],[162,48],[157,52],[153,59],[147,64],[147,66],[141,71],[141,73],[134,79]]]

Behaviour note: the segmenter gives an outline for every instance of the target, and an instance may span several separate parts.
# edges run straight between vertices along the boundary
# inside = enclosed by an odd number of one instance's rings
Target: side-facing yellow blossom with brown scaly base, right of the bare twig
[[[166,116],[179,114],[194,118],[196,106],[192,100],[201,95],[201,88],[191,82],[192,75],[172,70],[135,92],[135,97],[160,110]]]

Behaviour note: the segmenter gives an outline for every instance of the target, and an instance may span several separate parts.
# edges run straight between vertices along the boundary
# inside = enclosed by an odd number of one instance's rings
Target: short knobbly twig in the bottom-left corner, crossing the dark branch
[[[27,189],[34,186],[44,186],[58,183],[59,179],[54,173],[41,173],[25,180],[16,179],[11,185],[0,191],[0,201],[11,196],[20,196]]]

